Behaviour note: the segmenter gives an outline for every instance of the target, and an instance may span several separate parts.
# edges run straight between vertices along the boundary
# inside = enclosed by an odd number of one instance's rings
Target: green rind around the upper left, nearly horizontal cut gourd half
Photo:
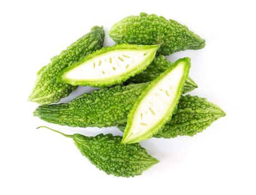
[[[100,50],[97,50],[90,55],[86,56],[83,60],[80,60],[79,62],[76,62],[72,66],[67,67],[66,69],[62,70],[59,73],[59,76],[57,76],[57,81],[59,82],[65,82],[67,84],[77,86],[77,85],[82,85],[82,86],[93,86],[93,87],[105,87],[105,86],[110,86],[110,85],[118,85],[121,84],[123,81],[126,81],[130,77],[135,76],[136,74],[142,72],[147,68],[149,64],[151,64],[152,60],[154,59],[154,56],[156,55],[156,51],[160,45],[129,45],[129,44],[120,44],[120,45],[114,45],[113,47],[105,47]],[[81,64],[84,64],[84,62],[91,60],[91,58],[94,58],[96,56],[104,55],[107,52],[110,51],[118,51],[118,50],[137,50],[137,51],[142,51],[142,50],[147,50],[147,49],[152,49],[152,53],[148,55],[141,64],[139,64],[136,68],[131,69],[127,72],[123,72],[122,75],[110,77],[108,79],[101,80],[100,78],[98,80],[75,80],[75,79],[69,79],[65,77],[69,71],[73,70],[74,68],[80,66]]]

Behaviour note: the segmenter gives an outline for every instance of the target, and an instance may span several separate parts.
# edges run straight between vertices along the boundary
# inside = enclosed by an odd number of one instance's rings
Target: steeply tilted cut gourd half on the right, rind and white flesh
[[[190,69],[190,58],[175,62],[143,90],[128,114],[122,143],[151,138],[171,119]]]

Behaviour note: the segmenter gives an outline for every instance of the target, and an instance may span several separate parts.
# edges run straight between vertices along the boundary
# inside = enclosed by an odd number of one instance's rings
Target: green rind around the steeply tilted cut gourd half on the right
[[[133,123],[136,120],[135,116],[136,113],[139,109],[139,105],[143,103],[145,100],[145,97],[149,94],[151,90],[155,89],[155,86],[161,80],[165,79],[165,77],[170,74],[173,70],[176,69],[176,67],[182,66],[182,75],[180,76],[178,83],[177,83],[177,90],[173,91],[175,94],[172,94],[174,96],[172,103],[170,106],[168,105],[168,108],[166,108],[166,114],[162,118],[159,118],[156,123],[153,126],[150,126],[149,128],[145,129],[143,133],[139,133],[138,135],[133,135]],[[138,99],[136,102],[133,104],[133,107],[131,111],[128,114],[128,119],[127,119],[127,126],[124,130],[124,135],[122,139],[123,144],[131,144],[131,143],[136,143],[136,142],[141,142],[142,140],[149,139],[151,138],[154,134],[157,134],[157,132],[165,125],[165,123],[171,119],[171,116],[173,114],[173,111],[175,111],[176,106],[178,104],[178,100],[180,99],[180,96],[182,94],[183,90],[183,84],[185,80],[187,79],[187,76],[189,75],[189,70],[190,70],[190,58],[181,58],[180,60],[177,60],[175,64],[171,67],[169,67],[165,72],[163,72],[160,76],[158,76],[156,79],[151,81],[147,87],[142,91],[141,95],[139,95]],[[168,110],[168,111],[167,111]],[[157,118],[157,115],[154,116]],[[139,127],[135,127],[139,128]]]

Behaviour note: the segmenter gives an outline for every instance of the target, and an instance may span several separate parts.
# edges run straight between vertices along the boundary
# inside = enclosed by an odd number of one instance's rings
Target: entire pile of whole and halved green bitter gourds
[[[73,138],[80,152],[107,174],[133,177],[156,164],[138,142],[195,135],[225,113],[205,98],[183,95],[197,85],[188,76],[190,58],[176,62],[164,55],[197,50],[205,40],[180,23],[141,13],[115,23],[109,36],[117,43],[103,48],[103,27],[71,44],[37,72],[29,97],[34,115],[49,123],[86,128],[117,126],[122,136],[99,134]],[[78,85],[100,87],[68,104],[52,104]],[[50,128],[49,128],[50,129]]]

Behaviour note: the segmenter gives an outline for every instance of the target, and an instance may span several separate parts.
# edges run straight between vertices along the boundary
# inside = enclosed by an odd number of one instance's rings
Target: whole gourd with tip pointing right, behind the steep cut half
[[[176,114],[172,115],[172,119],[154,137],[193,136],[225,115],[223,110],[205,98],[191,95],[182,96]],[[125,124],[118,125],[118,128],[124,132]]]

